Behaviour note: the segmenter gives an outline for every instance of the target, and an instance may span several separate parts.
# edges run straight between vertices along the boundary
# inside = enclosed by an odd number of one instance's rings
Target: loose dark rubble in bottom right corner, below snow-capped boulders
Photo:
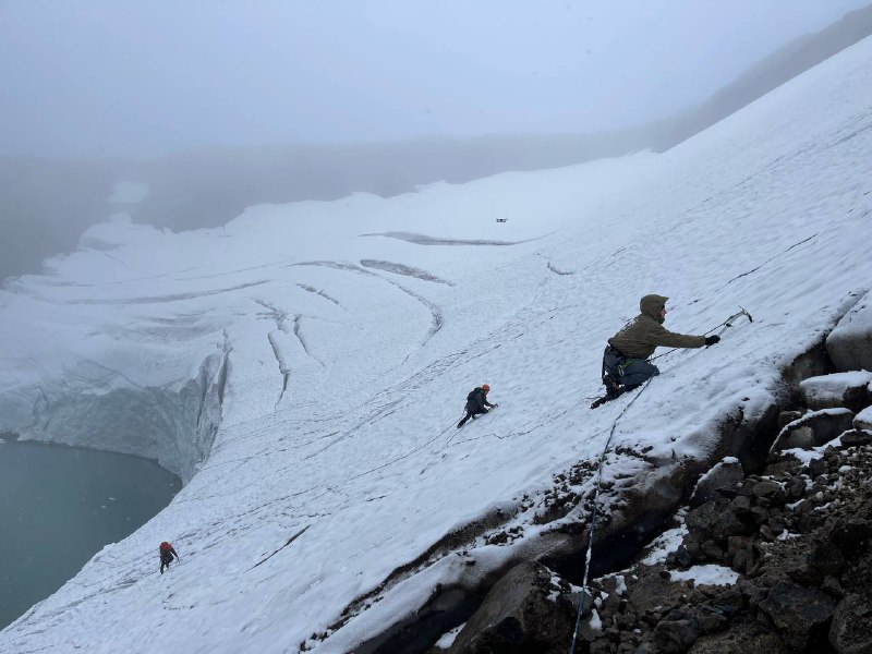
[[[618,601],[615,576],[595,580],[601,629],[582,631],[586,651],[872,651],[872,445],[846,439],[807,463],[775,455],[688,510],[681,544],[622,571]],[[706,583],[711,566],[737,581]]]

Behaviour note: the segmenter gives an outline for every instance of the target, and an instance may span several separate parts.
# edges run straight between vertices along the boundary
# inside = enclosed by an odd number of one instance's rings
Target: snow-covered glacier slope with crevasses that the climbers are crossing
[[[867,39],[662,156],[183,234],[93,228],[0,296],[0,428],[156,456],[190,483],[0,651],[296,652],[313,633],[315,652],[353,650],[436,583],[535,547],[529,498],[598,457],[629,401],[583,398],[645,293],[682,332],[754,315],[658,360],[616,434],[705,458],[713,426],[761,411],[870,286],[870,88]],[[483,382],[500,407],[458,432]],[[423,556],[496,509],[519,542]],[[161,577],[162,540],[183,562]]]

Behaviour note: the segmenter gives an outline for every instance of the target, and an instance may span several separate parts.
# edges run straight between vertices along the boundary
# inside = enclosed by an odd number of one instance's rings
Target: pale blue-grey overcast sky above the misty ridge
[[[583,132],[870,0],[0,0],[0,155]]]

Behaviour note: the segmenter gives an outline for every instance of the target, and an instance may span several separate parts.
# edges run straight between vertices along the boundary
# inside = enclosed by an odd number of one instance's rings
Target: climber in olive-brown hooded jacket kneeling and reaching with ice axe
[[[647,361],[657,347],[702,348],[714,346],[720,340],[719,336],[688,336],[666,329],[663,323],[666,320],[667,300],[663,295],[645,295],[639,302],[642,313],[608,339],[608,346],[603,353],[603,384],[606,395],[591,404],[591,409],[596,409],[659,375],[657,366]]]

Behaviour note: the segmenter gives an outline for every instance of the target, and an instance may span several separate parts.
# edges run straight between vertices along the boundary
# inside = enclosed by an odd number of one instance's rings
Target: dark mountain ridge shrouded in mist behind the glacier
[[[708,101],[627,130],[214,147],[153,159],[0,157],[0,220],[14,234],[0,245],[0,279],[39,272],[45,257],[74,250],[88,226],[114,211],[179,231],[223,225],[261,203],[334,201],[354,192],[387,197],[439,181],[665,152],[870,34],[872,5],[790,41]],[[123,181],[147,184],[145,198],[107,202]]]

